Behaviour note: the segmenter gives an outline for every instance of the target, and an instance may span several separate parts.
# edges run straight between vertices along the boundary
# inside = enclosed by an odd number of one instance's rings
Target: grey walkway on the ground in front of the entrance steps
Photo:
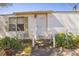
[[[33,48],[31,56],[50,56],[53,52],[52,48]]]

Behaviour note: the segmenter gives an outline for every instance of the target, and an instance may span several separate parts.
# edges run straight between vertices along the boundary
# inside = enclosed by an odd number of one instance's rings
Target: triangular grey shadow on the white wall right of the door
[[[52,33],[57,33],[57,32],[65,32],[65,27],[55,15],[51,16],[51,19],[49,21],[49,31]]]

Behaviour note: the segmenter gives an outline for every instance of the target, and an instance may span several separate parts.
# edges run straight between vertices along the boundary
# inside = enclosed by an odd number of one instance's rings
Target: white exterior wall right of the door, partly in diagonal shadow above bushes
[[[79,34],[78,13],[52,13],[48,17],[48,30],[52,32],[73,32]]]

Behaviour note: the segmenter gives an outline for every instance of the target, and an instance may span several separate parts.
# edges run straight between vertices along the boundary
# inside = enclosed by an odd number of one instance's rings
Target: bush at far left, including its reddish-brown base
[[[0,40],[0,46],[7,55],[12,55],[21,48],[21,43],[16,38],[5,37]]]

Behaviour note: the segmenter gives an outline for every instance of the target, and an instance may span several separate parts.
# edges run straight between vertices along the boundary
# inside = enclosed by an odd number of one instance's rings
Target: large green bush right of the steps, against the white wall
[[[72,33],[57,33],[55,35],[57,46],[64,48],[73,48],[74,45],[74,35]]]

